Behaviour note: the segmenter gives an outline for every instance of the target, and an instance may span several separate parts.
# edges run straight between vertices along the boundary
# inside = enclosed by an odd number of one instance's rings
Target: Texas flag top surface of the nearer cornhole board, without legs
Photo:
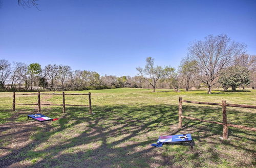
[[[161,143],[174,143],[174,142],[186,142],[192,141],[190,133],[180,134],[180,135],[168,135],[168,136],[159,136],[158,142]]]

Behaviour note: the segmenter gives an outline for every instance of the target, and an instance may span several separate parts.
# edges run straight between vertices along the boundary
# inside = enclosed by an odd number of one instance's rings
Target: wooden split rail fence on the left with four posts
[[[37,95],[37,103],[16,103],[16,95]],[[62,95],[62,104],[41,104],[40,95]],[[89,105],[78,105],[78,104],[66,104],[65,103],[65,95],[88,95],[89,97]],[[76,94],[76,93],[15,93],[13,92],[13,101],[12,101],[12,111],[15,111],[15,105],[37,105],[38,112],[41,112],[41,105],[59,105],[63,106],[62,112],[66,113],[66,106],[86,106],[89,107],[89,113],[92,114],[92,101],[91,101],[91,92],[84,94]]]

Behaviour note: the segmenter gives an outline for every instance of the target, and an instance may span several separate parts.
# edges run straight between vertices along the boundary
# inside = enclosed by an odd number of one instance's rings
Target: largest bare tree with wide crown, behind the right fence
[[[188,48],[191,61],[199,68],[197,78],[208,86],[208,93],[217,82],[220,71],[231,63],[236,55],[245,52],[245,45],[231,41],[227,35],[205,37]]]

